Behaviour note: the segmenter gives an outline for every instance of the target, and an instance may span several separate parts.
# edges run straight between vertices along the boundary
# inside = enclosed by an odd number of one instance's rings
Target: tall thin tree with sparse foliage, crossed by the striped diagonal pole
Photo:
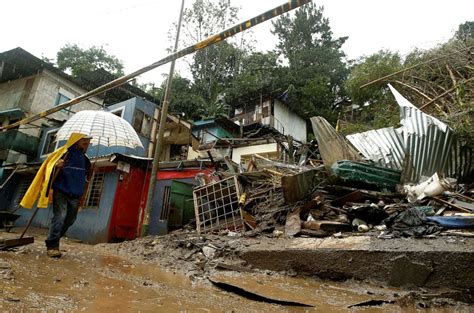
[[[185,9],[182,25],[182,41],[188,46],[199,42],[237,20],[238,8],[230,0],[195,0]],[[176,25],[175,25],[176,26]],[[170,38],[171,39],[171,38]],[[241,37],[240,46],[245,46]],[[241,59],[248,48],[238,48],[235,38],[197,51],[188,65],[192,74],[192,91],[200,97],[201,114],[209,116],[218,112],[227,113],[223,91],[232,85],[234,76],[240,71]]]

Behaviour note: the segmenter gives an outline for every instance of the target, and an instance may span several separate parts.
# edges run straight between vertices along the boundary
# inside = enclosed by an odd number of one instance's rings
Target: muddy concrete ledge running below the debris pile
[[[240,257],[255,268],[373,281],[390,286],[474,288],[474,238],[262,240]]]

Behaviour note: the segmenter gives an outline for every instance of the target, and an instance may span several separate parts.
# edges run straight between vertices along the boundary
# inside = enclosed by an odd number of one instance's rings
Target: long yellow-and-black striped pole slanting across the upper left
[[[161,59],[153,64],[150,64],[148,66],[145,66],[144,68],[141,68],[133,73],[130,73],[128,75],[125,75],[125,76],[122,76],[122,77],[119,77],[107,84],[104,84],[100,87],[97,87],[77,98],[74,98],[74,99],[71,99],[67,102],[64,102],[63,104],[60,104],[58,106],[55,106],[54,108],[51,108],[51,109],[48,109],[46,111],[43,111],[39,114],[36,114],[36,115],[33,115],[33,116],[30,116],[30,117],[27,117],[27,118],[24,118],[16,123],[13,123],[13,124],[10,124],[8,126],[4,126],[4,127],[1,127],[0,130],[7,130],[7,129],[10,129],[10,128],[14,128],[14,127],[17,127],[17,126],[20,126],[20,125],[24,125],[24,124],[28,124],[28,123],[31,123],[31,122],[34,122],[34,121],[37,121],[45,116],[48,116],[48,115],[51,115],[55,112],[58,112],[58,111],[61,111],[63,109],[66,109],[70,106],[73,106],[75,104],[78,104],[79,102],[82,102],[84,100],[87,100],[91,97],[94,97],[94,96],[97,96],[105,91],[108,91],[110,89],[113,89],[115,87],[118,87],[118,86],[121,86],[125,83],[127,83],[128,81],[130,81],[131,79],[143,74],[143,73],[146,73],[148,71],[151,71],[152,69],[155,69],[159,66],[162,66],[164,64],[167,64],[173,60],[176,60],[176,59],[179,59],[179,58],[182,58],[183,56],[186,56],[188,54],[191,54],[193,52],[196,52],[198,50],[202,50],[206,47],[209,47],[213,44],[216,44],[220,41],[223,41],[229,37],[232,37],[234,36],[235,34],[238,34],[240,32],[243,32],[244,30],[247,30],[249,28],[252,28],[254,27],[255,25],[258,25],[260,23],[263,23],[269,19],[272,19],[276,16],[279,16],[281,14],[284,14],[286,12],[289,12],[293,9],[296,9],[306,3],[309,3],[311,2],[311,0],[290,0],[288,1],[287,3],[283,4],[283,5],[280,5],[280,6],[277,6],[276,8],[274,9],[271,9],[271,10],[268,10],[267,12],[265,13],[262,13],[260,15],[257,15],[256,17],[254,18],[251,18],[245,22],[242,22],[240,24],[237,24],[231,28],[228,28],[222,32],[220,32],[219,34],[216,34],[216,35],[213,35],[213,36],[210,36],[192,46],[189,46],[187,48],[184,48],[180,51],[177,51],[175,53],[172,53],[170,55],[168,55],[166,58],[164,59]]]

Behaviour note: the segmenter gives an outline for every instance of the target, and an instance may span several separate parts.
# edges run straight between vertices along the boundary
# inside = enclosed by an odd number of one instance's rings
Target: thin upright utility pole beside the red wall
[[[181,2],[181,11],[179,13],[178,29],[176,31],[176,39],[174,42],[173,53],[176,53],[176,51],[178,50],[179,33],[181,31],[183,11],[184,11],[184,0],[182,0]],[[170,72],[168,74],[168,80],[166,82],[165,97],[163,99],[163,105],[161,107],[161,112],[160,112],[161,118],[160,118],[160,125],[158,127],[158,136],[156,134],[156,127],[152,135],[153,136],[152,138],[155,140],[155,155],[153,157],[153,165],[151,168],[151,176],[150,176],[150,185],[148,187],[148,194],[146,197],[145,216],[143,217],[141,237],[145,237],[148,234],[148,229],[150,228],[151,203],[153,200],[153,191],[155,190],[155,186],[156,186],[156,178],[157,178],[156,174],[158,173],[158,167],[160,164],[161,151],[163,150],[163,134],[165,132],[166,119],[168,117],[168,106],[170,102],[171,84],[173,82],[175,63],[176,63],[176,59],[174,59],[171,62]]]

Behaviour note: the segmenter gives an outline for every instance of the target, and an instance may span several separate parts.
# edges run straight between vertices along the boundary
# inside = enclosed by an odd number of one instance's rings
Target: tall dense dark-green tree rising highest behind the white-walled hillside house
[[[294,86],[290,106],[306,116],[324,115],[335,121],[331,108],[344,95],[348,73],[341,50],[347,37],[333,38],[323,8],[313,3],[272,24],[279,39],[276,51],[288,61],[286,84]]]

